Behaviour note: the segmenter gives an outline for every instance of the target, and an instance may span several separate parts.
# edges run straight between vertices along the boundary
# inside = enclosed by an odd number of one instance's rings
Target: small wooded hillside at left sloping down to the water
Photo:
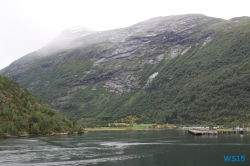
[[[0,76],[0,135],[74,131],[78,125],[42,103],[27,89]]]

